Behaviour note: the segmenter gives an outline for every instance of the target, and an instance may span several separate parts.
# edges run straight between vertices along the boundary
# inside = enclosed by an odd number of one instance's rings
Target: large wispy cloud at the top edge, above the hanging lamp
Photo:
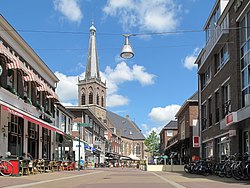
[[[118,17],[123,29],[173,31],[179,24],[181,6],[173,0],[108,0],[103,8],[107,16]]]

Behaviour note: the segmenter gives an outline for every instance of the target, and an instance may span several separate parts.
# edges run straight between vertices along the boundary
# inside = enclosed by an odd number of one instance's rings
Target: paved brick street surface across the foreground
[[[170,172],[145,172],[138,169],[94,169],[62,171],[22,177],[0,177],[0,187],[47,188],[236,188],[250,187],[250,181],[217,176]]]

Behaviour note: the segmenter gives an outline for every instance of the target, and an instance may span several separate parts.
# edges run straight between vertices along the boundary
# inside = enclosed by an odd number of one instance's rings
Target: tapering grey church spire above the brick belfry
[[[90,38],[89,38],[89,51],[88,51],[88,62],[86,66],[85,79],[97,78],[101,80],[99,65],[98,65],[98,57],[97,57],[97,48],[96,48],[96,28],[94,26],[94,22],[92,21],[92,25],[89,28]]]

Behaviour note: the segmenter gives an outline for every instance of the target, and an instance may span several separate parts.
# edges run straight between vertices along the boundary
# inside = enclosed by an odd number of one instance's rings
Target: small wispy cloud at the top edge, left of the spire
[[[54,0],[54,9],[72,22],[80,23],[83,18],[79,0]]]

